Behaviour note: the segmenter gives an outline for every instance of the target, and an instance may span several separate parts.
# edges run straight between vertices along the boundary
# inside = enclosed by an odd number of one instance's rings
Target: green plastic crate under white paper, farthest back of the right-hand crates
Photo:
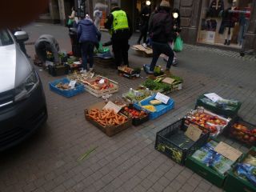
[[[196,106],[202,106],[206,110],[210,110],[214,114],[219,114],[225,118],[235,118],[238,115],[238,110],[240,109],[242,103],[238,102],[238,106],[232,107],[232,110],[223,110],[219,106],[217,106],[214,102],[210,100],[210,98],[206,98],[204,94],[200,95],[198,97],[198,100],[196,102]]]

